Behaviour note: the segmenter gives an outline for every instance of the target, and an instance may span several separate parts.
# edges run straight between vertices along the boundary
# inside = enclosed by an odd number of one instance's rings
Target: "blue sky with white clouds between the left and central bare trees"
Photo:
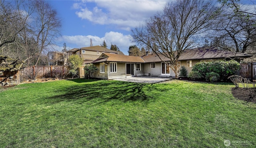
[[[62,19],[62,31],[56,39],[56,50],[62,50],[65,42],[68,49],[88,47],[105,40],[108,48],[111,43],[128,55],[128,48],[134,45],[131,29],[162,11],[166,1],[147,0],[49,0]]]

